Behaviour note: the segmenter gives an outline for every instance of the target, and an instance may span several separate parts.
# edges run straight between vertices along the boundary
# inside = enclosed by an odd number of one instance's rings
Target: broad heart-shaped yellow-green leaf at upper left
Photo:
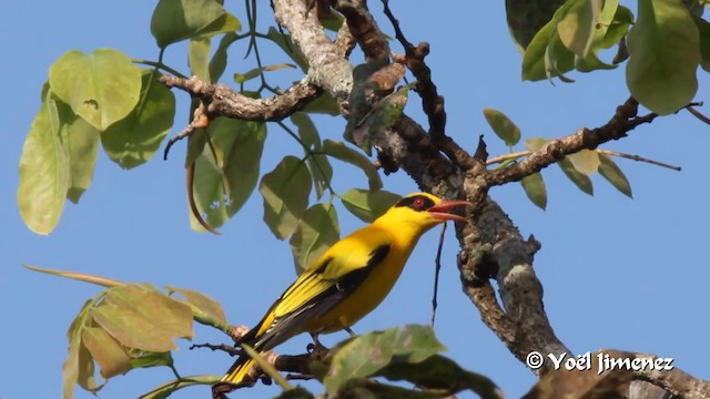
[[[49,84],[60,100],[92,126],[104,131],[138,104],[141,70],[122,52],[64,53],[49,70]]]

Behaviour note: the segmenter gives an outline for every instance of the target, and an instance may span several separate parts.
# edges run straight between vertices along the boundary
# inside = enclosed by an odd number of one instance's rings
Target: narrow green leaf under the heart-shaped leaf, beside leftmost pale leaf
[[[71,183],[67,198],[77,204],[93,180],[101,135],[95,127],[74,114],[69,105],[61,101],[55,104],[61,123],[60,137],[70,163]]]

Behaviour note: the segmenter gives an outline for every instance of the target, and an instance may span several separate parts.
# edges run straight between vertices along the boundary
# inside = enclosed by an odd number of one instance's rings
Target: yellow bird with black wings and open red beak
[[[427,193],[402,198],[311,264],[236,344],[263,352],[301,332],[349,329],[387,296],[422,234],[446,221],[464,222],[448,213],[464,205],[470,203]],[[240,355],[214,390],[226,392],[245,382],[253,365],[248,355]]]

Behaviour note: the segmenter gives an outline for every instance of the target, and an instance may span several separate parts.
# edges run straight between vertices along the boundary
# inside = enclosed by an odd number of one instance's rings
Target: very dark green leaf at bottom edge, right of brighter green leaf
[[[468,389],[481,399],[503,399],[503,392],[488,377],[466,371],[442,355],[430,356],[420,362],[392,364],[378,375],[394,381],[409,381],[424,391],[437,392],[437,397]]]

